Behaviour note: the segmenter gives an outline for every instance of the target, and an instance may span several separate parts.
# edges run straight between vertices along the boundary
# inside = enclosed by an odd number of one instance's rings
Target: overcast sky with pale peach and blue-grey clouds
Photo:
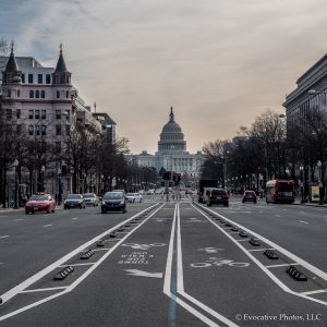
[[[55,66],[117,122],[134,154],[157,150],[169,108],[187,150],[237,135],[326,53],[326,0],[1,0],[0,36]]]

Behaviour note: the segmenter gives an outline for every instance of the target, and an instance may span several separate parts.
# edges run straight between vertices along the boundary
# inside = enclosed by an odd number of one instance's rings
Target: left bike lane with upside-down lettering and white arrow
[[[114,251],[80,287],[5,326],[204,326],[162,291],[174,213],[175,205],[166,204],[141,222],[130,221],[117,232]]]

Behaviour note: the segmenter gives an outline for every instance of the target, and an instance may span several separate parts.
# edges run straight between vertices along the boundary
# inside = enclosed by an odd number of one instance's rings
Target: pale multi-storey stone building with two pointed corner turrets
[[[69,150],[66,141],[77,123],[86,133],[98,135],[105,133],[106,120],[111,119],[104,113],[105,120],[99,120],[101,113],[94,116],[78,96],[78,90],[71,82],[72,73],[66,68],[62,47],[55,69],[43,66],[32,57],[15,57],[13,45],[9,58],[0,58],[0,65],[2,123],[14,129],[11,137],[34,142],[34,148],[31,149],[31,155],[34,156],[31,158],[32,166],[26,169],[24,165],[24,169],[20,171],[20,193],[32,194],[44,190],[60,197],[71,193],[70,167],[56,158],[56,153]],[[111,129],[111,140],[114,140],[114,125]],[[51,147],[49,160],[38,158],[37,147],[43,144]],[[47,152],[49,153],[49,148]],[[21,164],[20,167],[23,166]]]

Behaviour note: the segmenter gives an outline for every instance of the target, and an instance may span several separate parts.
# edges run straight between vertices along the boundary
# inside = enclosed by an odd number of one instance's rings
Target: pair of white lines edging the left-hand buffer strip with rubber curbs
[[[164,204],[165,205],[165,204]],[[21,307],[16,311],[13,311],[4,316],[0,316],[0,322],[5,320],[12,316],[15,316],[22,312],[25,312],[29,308],[33,308],[35,306],[38,306],[40,304],[44,304],[48,301],[51,301],[56,298],[59,298],[61,295],[64,295],[69,292],[71,292],[75,287],[77,287],[89,274],[92,274],[125,239],[128,239],[135,230],[137,230],[145,221],[147,221],[150,217],[153,217],[158,210],[160,210],[162,208],[161,205],[158,209],[156,209],[148,218],[146,218],[144,221],[142,221],[142,223],[140,223],[134,230],[131,231],[131,233],[129,235],[125,235],[121,242],[117,243],[110,251],[108,251],[95,265],[93,265],[88,270],[86,270],[82,276],[80,276],[80,278],[77,278],[70,287],[68,287],[66,289],[64,289],[62,292],[52,294],[50,296],[47,296],[45,299],[41,299],[37,302],[34,302],[32,304],[28,304],[24,307]],[[156,207],[157,204],[150,206],[149,208],[154,208]],[[9,290],[7,293],[4,293],[3,295],[1,295],[0,298],[2,299],[2,304],[4,302],[7,302],[9,299],[13,298],[15,294],[22,292],[23,290],[25,290],[28,286],[33,284],[34,282],[36,282],[37,280],[39,280],[41,277],[44,277],[45,275],[47,275],[48,272],[51,272],[55,268],[57,268],[59,265],[62,265],[63,263],[65,263],[66,261],[69,261],[71,257],[73,257],[74,255],[78,254],[83,249],[89,246],[90,244],[95,243],[96,241],[98,241],[99,239],[101,239],[102,237],[105,237],[107,233],[113,231],[114,229],[117,229],[118,227],[126,223],[130,220],[133,220],[135,217],[142,215],[144,211],[148,210],[149,208],[146,208],[144,210],[142,210],[141,213],[134,215],[133,217],[122,221],[121,223],[110,228],[109,230],[102,232],[101,234],[95,237],[93,240],[86,242],[85,244],[78,246],[77,249],[75,249],[74,251],[72,251],[71,253],[66,254],[65,256],[63,256],[62,258],[60,258],[59,261],[57,261],[56,263],[53,263],[52,265],[48,266],[47,268],[45,268],[44,270],[37,272],[36,275],[29,277],[28,279],[26,279],[25,281],[23,281],[22,283],[17,284],[16,287],[14,287],[13,289]],[[46,274],[45,274],[46,272]]]

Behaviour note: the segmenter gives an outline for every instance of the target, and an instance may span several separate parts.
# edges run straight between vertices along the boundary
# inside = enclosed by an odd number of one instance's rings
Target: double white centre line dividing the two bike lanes
[[[177,226],[177,231],[175,231]],[[173,249],[174,243],[177,246],[177,289],[175,294],[174,290],[171,290],[171,281],[174,281],[175,278],[172,276],[172,258],[173,258]],[[184,291],[184,278],[183,278],[183,261],[182,261],[182,240],[181,240],[181,218],[180,218],[180,206],[179,204],[174,207],[173,213],[173,221],[172,221],[172,228],[170,233],[170,241],[169,241],[169,249],[168,249],[168,257],[167,257],[167,264],[166,264],[166,272],[165,272],[165,282],[164,282],[164,293],[168,295],[171,301],[178,303],[182,307],[184,307],[186,311],[189,311],[192,315],[201,319],[203,323],[205,323],[208,326],[218,326],[215,322],[206,317],[204,314],[202,314],[199,311],[194,308],[196,306],[197,308],[203,310],[204,312],[208,313],[219,322],[226,324],[230,327],[238,327],[233,322],[229,320],[227,317],[220,315],[216,311],[211,310],[204,303],[199,302],[198,300],[194,299],[190,294],[187,294]],[[184,299],[189,300],[194,306],[191,306],[187,304],[184,300],[178,296],[180,294]],[[174,319],[174,316],[171,316],[171,319]],[[174,325],[174,322],[171,322],[171,325]]]

